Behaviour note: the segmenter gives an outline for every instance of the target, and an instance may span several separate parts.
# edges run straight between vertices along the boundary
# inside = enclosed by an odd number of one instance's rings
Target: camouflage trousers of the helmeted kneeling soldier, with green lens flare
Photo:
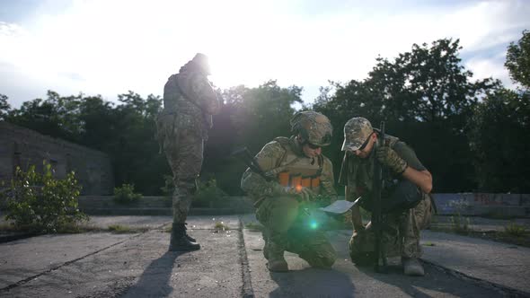
[[[337,259],[336,251],[322,231],[309,229],[300,204],[293,197],[269,197],[256,210],[264,226],[264,251],[274,248],[294,252],[311,267],[329,268]],[[267,258],[267,256],[266,256]]]

